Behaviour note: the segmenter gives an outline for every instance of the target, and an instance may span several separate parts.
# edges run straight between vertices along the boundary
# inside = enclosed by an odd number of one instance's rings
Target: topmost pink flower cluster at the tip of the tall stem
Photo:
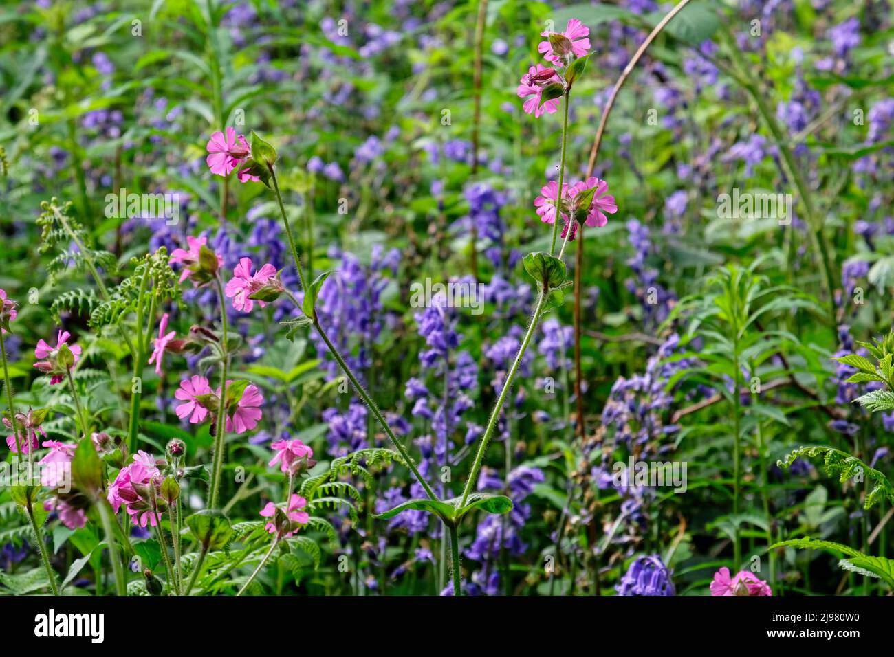
[[[566,80],[556,72],[556,68],[568,66],[590,50],[590,29],[576,18],[568,21],[564,32],[553,37],[556,43],[550,40],[551,34],[552,32],[540,33],[546,39],[537,46],[537,52],[544,55],[544,59],[552,66],[547,67],[541,63],[531,66],[521,77],[519,88],[516,89],[519,98],[525,98],[522,109],[535,117],[555,114],[559,110],[558,97],[544,100],[544,89],[552,84],[560,84],[562,91],[567,89]]]

